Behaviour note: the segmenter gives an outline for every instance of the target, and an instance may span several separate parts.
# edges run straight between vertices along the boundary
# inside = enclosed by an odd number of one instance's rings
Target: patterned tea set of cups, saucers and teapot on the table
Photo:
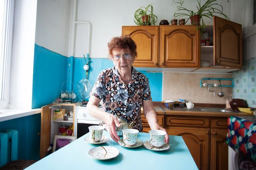
[[[150,141],[143,143],[138,139],[139,130],[132,129],[134,122],[129,125],[123,120],[119,120],[121,126],[116,128],[116,132],[119,132],[119,136],[123,136],[118,141],[118,144],[122,147],[135,148],[144,145],[147,149],[153,151],[168,150],[170,145],[164,142],[166,132],[163,130],[150,130]],[[103,124],[102,124],[103,125]],[[103,129],[107,130],[106,126],[90,126],[90,136],[87,136],[84,141],[90,144],[102,144],[109,141],[107,136],[103,136]],[[111,146],[94,147],[89,151],[89,155],[98,160],[108,160],[115,158],[119,154],[119,150]]]

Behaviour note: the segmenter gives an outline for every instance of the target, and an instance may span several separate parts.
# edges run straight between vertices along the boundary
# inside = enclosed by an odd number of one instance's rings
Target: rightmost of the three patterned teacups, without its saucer
[[[163,130],[150,130],[150,144],[156,148],[160,148],[164,144],[164,137],[166,132]]]

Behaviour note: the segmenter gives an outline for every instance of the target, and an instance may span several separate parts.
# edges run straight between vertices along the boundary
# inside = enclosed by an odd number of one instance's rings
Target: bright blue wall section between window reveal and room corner
[[[32,108],[49,105],[60,96],[67,62],[68,57],[35,44]]]

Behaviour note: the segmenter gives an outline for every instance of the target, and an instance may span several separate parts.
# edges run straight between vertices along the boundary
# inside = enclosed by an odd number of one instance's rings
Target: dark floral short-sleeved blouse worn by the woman
[[[131,82],[125,85],[115,66],[105,69],[90,94],[103,100],[103,111],[120,116],[128,123],[136,122],[133,128],[142,132],[140,109],[143,101],[151,99],[148,78],[144,74],[132,67]]]

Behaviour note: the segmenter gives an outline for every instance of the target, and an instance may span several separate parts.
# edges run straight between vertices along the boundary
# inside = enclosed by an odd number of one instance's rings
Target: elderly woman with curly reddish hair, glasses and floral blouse
[[[120,139],[116,133],[116,127],[120,127],[116,116],[128,123],[136,122],[133,128],[142,132],[141,107],[151,130],[166,131],[158,125],[148,78],[132,66],[137,57],[136,48],[131,37],[112,38],[108,43],[108,52],[115,66],[100,72],[87,104],[89,113],[108,126],[115,142]],[[98,108],[101,100],[102,110]],[[168,134],[165,136],[165,142],[169,143]]]

